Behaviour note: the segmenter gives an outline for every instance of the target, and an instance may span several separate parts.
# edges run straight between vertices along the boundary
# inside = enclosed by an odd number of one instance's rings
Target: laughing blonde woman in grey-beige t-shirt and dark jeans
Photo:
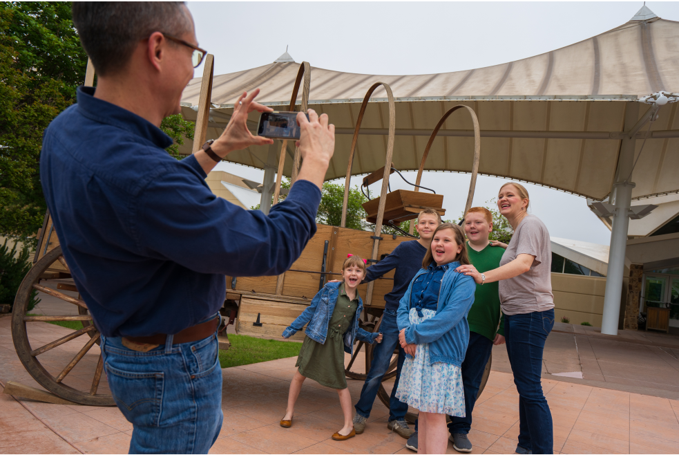
[[[530,198],[519,183],[505,183],[497,195],[499,212],[514,235],[495,270],[479,273],[472,265],[457,271],[477,284],[499,281],[500,308],[514,383],[519,391],[518,454],[553,453],[552,415],[542,392],[542,351],[554,326],[549,232],[528,214]]]

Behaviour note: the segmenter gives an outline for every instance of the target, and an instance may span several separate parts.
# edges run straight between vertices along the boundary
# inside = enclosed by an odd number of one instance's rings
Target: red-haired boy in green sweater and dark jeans
[[[484,207],[472,207],[464,217],[467,234],[467,251],[473,266],[484,273],[498,268],[507,245],[488,240],[492,232],[492,214]],[[458,452],[471,452],[472,443],[467,434],[472,425],[472,410],[476,402],[484,369],[490,358],[493,344],[504,343],[504,329],[500,318],[500,297],[497,281],[477,284],[474,304],[469,310],[469,344],[462,362],[462,384],[466,417],[451,416],[448,424],[452,447]]]

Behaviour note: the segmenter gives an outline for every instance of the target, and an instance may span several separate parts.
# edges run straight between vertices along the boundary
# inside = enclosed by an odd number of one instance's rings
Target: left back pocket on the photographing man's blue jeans
[[[123,415],[134,425],[160,425],[164,373],[162,371],[124,371],[106,363],[108,387]]]

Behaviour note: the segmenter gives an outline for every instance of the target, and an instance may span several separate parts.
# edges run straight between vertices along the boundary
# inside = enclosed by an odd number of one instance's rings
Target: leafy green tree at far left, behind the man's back
[[[0,232],[27,239],[46,205],[42,133],[75,101],[87,56],[70,2],[0,2]]]

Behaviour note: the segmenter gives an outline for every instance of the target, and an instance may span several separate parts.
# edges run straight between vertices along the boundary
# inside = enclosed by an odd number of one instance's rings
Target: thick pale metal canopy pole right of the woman
[[[625,111],[624,130],[631,131],[639,120],[640,103],[629,102]],[[620,299],[622,298],[622,280],[624,279],[624,259],[627,250],[627,228],[629,227],[629,207],[632,199],[631,182],[624,182],[624,178],[634,165],[635,139],[623,139],[620,144],[620,158],[615,183],[615,215],[611,228],[611,245],[609,248],[609,266],[606,274],[606,293],[604,295],[604,315],[601,323],[601,333],[618,335],[620,321]],[[611,192],[613,194],[613,192]]]

